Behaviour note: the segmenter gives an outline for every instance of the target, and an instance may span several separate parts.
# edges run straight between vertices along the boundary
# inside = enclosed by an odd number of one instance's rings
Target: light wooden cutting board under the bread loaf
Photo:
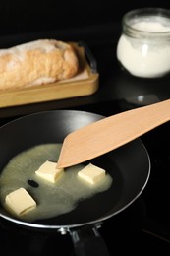
[[[0,108],[75,96],[88,96],[95,93],[98,89],[99,75],[91,69],[85,56],[84,46],[80,46],[76,42],[71,43],[77,51],[80,62],[80,71],[77,76],[52,84],[2,91],[0,92]]]

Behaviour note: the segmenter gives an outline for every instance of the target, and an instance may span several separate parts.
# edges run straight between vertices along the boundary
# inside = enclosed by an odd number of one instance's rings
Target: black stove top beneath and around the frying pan
[[[107,102],[104,108],[101,103],[77,109],[109,116],[127,108],[132,105],[119,100]],[[164,255],[170,252],[169,130],[170,124],[166,123],[141,137],[150,156],[151,174],[142,195],[128,209],[101,224],[99,232],[110,255],[117,251],[123,253],[124,248],[131,255],[143,255],[145,251],[153,255],[162,255],[162,250]],[[53,252],[58,255],[59,251],[62,255],[75,255],[70,234],[62,235],[57,230],[50,233],[28,230],[1,220],[0,235],[1,255],[43,256]]]

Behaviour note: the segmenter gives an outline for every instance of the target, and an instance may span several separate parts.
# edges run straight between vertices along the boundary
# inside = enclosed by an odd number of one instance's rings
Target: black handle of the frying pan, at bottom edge
[[[76,256],[109,256],[107,245],[101,237],[98,226],[70,230]]]

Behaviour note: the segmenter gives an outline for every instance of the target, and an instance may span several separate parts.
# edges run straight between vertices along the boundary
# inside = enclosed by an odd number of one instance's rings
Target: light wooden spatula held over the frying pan
[[[91,123],[64,140],[57,163],[69,167],[110,152],[170,120],[170,99]]]

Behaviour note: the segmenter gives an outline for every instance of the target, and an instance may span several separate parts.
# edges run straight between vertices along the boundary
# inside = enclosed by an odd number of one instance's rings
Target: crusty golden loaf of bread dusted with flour
[[[0,49],[0,90],[49,84],[74,77],[79,60],[70,43],[39,39]]]

